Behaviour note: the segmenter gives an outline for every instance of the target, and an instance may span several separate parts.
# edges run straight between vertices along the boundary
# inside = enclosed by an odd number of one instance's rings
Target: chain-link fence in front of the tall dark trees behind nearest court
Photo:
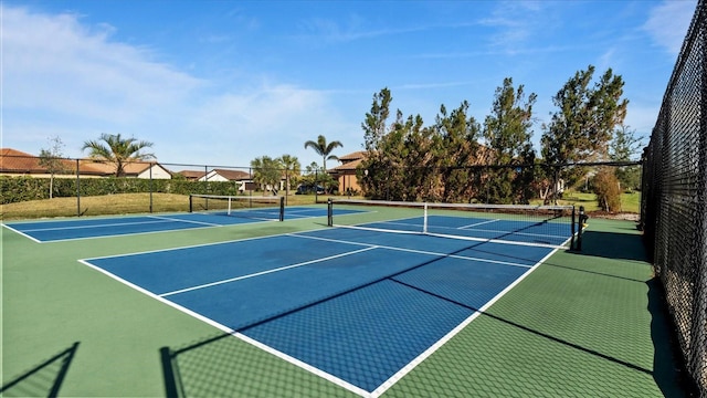
[[[367,198],[407,202],[578,205],[604,213],[637,213],[640,161],[473,165],[447,168],[373,165],[360,172]],[[635,209],[633,209],[635,208]]]

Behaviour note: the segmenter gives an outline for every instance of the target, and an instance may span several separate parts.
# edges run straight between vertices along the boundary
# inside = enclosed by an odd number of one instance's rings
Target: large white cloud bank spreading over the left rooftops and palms
[[[247,73],[241,82],[197,78],[156,51],[112,40],[108,25],[2,7],[0,146],[39,154],[59,137],[66,156],[80,157],[83,142],[120,133],[152,142],[160,161],[247,166],[288,153],[308,164],[316,154],[305,140],[358,132],[325,93]]]

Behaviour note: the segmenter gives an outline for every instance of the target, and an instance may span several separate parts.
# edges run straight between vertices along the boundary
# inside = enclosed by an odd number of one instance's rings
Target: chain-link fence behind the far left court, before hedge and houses
[[[188,211],[189,195],[293,199],[303,193],[292,201],[306,203],[312,199],[314,203],[317,195],[336,189],[335,182],[319,169],[157,161],[117,164],[3,153],[0,154],[0,205],[3,206],[0,216],[11,219]]]

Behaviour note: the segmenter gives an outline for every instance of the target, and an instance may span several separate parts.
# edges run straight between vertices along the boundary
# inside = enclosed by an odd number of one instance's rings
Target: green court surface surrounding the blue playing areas
[[[2,396],[356,396],[77,261],[325,224],[54,243],[1,228]],[[635,224],[592,219],[581,253],[556,252],[381,396],[682,397],[669,335]]]

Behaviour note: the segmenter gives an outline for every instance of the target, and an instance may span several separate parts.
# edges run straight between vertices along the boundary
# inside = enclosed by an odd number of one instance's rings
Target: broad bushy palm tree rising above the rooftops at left
[[[101,143],[104,142],[105,144]],[[87,140],[82,150],[89,150],[93,159],[107,160],[115,164],[115,176],[125,175],[125,164],[155,158],[152,154],[140,150],[152,147],[152,143],[138,142],[135,138],[123,138],[120,134],[102,134],[98,140]]]

